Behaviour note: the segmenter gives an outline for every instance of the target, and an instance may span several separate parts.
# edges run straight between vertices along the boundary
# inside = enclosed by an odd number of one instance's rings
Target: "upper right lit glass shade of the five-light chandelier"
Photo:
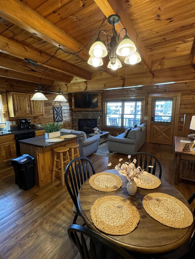
[[[119,44],[116,54],[119,56],[127,56],[136,51],[136,46],[128,35],[125,35],[122,42]]]

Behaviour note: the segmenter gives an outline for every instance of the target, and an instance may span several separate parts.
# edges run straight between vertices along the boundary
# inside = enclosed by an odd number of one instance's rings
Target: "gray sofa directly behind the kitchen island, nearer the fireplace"
[[[91,155],[92,153],[98,150],[99,139],[100,139],[99,135],[87,138],[86,133],[83,131],[67,130],[67,129],[61,129],[60,131],[75,134],[75,135],[76,134],[83,135],[83,137],[77,138],[77,142],[79,144],[80,156],[87,157],[88,155]]]

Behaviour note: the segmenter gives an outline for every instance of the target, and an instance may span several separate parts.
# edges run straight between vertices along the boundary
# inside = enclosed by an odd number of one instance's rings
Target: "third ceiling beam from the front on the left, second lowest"
[[[15,60],[10,60],[7,58],[0,57],[0,68],[12,70],[12,71],[19,72],[19,73],[28,74],[28,75],[35,76],[35,77],[42,77],[43,73],[38,72],[34,68],[34,66],[29,65],[27,62],[25,62],[25,63],[26,64],[23,64],[22,62],[17,62]],[[73,77],[71,77],[71,79],[70,79],[66,75],[59,75],[59,74],[55,74],[55,73],[54,73],[54,75],[55,75],[57,81],[61,81],[64,83],[70,83],[70,81],[73,78]],[[49,72],[48,70],[44,73],[43,78],[55,80],[53,74],[51,72]],[[83,79],[83,81],[84,81],[84,79]]]

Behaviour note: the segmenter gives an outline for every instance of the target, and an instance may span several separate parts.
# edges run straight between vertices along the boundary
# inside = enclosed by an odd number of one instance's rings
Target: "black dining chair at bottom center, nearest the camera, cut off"
[[[81,259],[133,259],[121,247],[86,227],[72,224],[68,234],[78,248]]]

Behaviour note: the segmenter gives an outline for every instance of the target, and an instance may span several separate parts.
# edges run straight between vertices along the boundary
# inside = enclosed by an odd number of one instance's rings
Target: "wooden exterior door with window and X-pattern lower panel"
[[[152,98],[150,142],[172,145],[176,97]]]

